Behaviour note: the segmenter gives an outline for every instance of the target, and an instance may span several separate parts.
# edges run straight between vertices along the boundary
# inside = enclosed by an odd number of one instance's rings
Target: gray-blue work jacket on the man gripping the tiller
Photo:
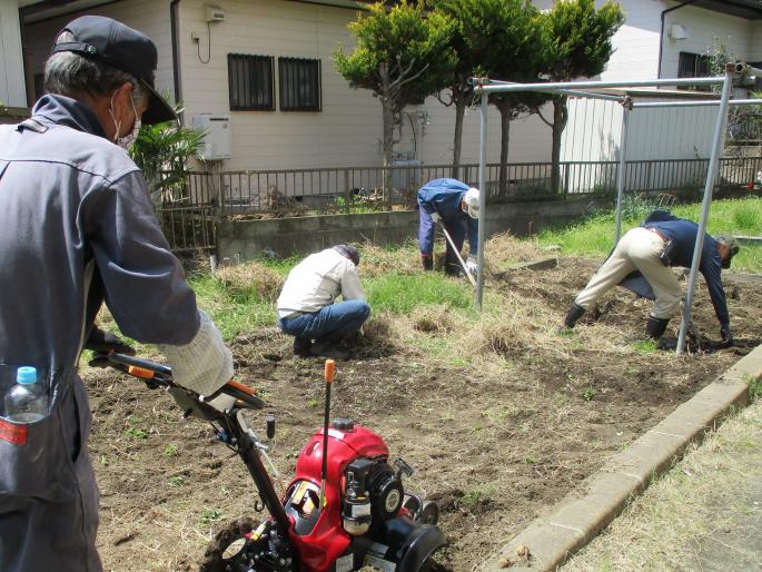
[[[83,103],[44,96],[0,126],[0,359],[73,367],[106,300],[139,342],[184,345],[196,298],[127,151]]]

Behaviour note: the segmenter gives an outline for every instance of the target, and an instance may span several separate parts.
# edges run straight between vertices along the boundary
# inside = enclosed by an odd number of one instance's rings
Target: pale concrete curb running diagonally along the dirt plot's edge
[[[633,495],[667,471],[692,442],[700,441],[724,416],[749,401],[749,375],[762,377],[762,346],[612,457],[598,473],[587,477],[475,570],[538,571],[563,564],[614,520]],[[528,549],[528,560],[517,555],[519,546]]]

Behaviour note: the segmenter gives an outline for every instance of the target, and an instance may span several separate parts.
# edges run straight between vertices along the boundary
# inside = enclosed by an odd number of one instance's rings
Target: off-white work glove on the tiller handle
[[[232,377],[232,354],[206,312],[198,310],[198,315],[201,325],[190,343],[159,345],[159,351],[172,367],[175,383],[199,395],[211,395]]]

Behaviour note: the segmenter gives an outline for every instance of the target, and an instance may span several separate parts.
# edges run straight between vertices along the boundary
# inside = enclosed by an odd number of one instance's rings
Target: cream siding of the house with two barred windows
[[[208,31],[204,2],[186,0],[180,10],[182,92],[190,118],[200,112],[228,112],[228,53],[266,55],[276,58],[315,58],[321,61],[323,110],[319,112],[230,112],[232,158],[224,169],[287,169],[379,165],[382,161],[382,110],[370,91],[353,90],[333,65],[340,43],[350,52],[354,40],[347,24],[354,10],[283,0],[224,1],[227,21],[212,23],[211,59],[202,63],[191,32],[200,36],[201,58],[207,57]],[[425,137],[414,140],[409,121],[402,126],[396,151],[414,155],[425,164],[449,164],[453,154],[454,109],[428,98],[416,108],[428,114]],[[499,115],[489,110],[489,160],[499,156]],[[420,126],[417,126],[418,129]],[[512,161],[547,160],[550,129],[538,118],[519,119],[511,126]],[[463,136],[464,162],[478,160],[479,114],[466,114]]]

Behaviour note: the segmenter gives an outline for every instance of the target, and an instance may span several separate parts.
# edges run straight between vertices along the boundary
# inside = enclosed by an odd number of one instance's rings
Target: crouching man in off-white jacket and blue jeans
[[[288,273],[278,297],[278,326],[294,336],[294,354],[346,357],[337,345],[370,316],[358,265],[357,248],[336,245],[309,255]],[[343,300],[334,302],[339,295]]]

